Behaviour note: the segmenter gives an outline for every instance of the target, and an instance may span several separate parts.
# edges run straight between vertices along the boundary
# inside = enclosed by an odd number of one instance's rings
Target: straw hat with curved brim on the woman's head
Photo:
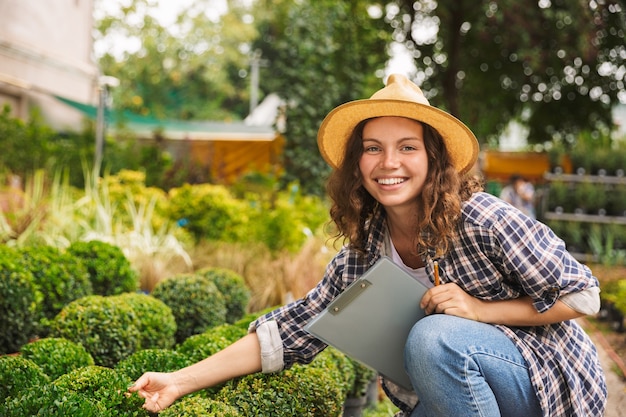
[[[452,164],[461,173],[476,162],[478,141],[472,131],[456,117],[432,107],[422,90],[400,74],[390,75],[387,86],[369,99],[350,101],[328,113],[317,134],[324,160],[337,168],[356,125],[380,116],[407,117],[432,126],[443,138]]]

